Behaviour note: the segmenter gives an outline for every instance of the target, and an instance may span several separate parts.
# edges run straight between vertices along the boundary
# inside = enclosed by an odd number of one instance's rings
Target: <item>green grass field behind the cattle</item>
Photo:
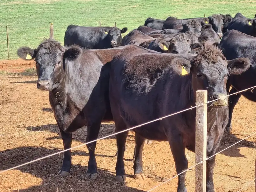
[[[16,50],[26,45],[36,48],[49,37],[53,22],[54,38],[64,42],[68,25],[127,27],[130,30],[144,24],[148,17],[166,19],[203,17],[213,13],[241,12],[253,18],[255,1],[239,0],[1,0],[0,60],[7,59],[6,26],[9,31],[10,59],[18,58]],[[127,34],[126,32],[126,34]]]

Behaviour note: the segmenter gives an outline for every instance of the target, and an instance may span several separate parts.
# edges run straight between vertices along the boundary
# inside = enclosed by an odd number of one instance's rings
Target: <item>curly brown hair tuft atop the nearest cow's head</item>
[[[202,49],[200,52],[198,52],[198,54],[195,58],[195,63],[199,64],[199,62],[202,59],[204,59],[208,63],[215,64],[219,61],[219,57],[222,60],[226,60],[222,51],[218,47],[216,47],[212,44],[205,44],[204,49]]]

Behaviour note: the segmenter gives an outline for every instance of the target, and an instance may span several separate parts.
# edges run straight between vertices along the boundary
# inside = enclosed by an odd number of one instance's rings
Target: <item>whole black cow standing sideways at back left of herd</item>
[[[107,49],[120,46],[122,33],[117,27],[83,27],[69,25],[64,36],[64,45],[79,45],[84,49]]]

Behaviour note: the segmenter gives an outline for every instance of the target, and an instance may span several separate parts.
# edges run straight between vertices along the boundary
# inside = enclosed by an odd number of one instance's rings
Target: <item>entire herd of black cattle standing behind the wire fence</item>
[[[87,141],[98,137],[102,121],[114,120],[116,131],[195,106],[197,90],[207,90],[207,156],[218,150],[241,94],[256,101],[256,18],[241,13],[208,18],[166,20],[148,18],[144,26],[127,28],[68,26],[65,46],[47,39],[36,49],[21,47],[18,55],[36,61],[37,88],[49,91],[49,101],[65,149],[72,132],[87,126]],[[221,38],[221,40],[220,40]],[[229,91],[232,85],[232,89]],[[134,178],[144,180],[145,140],[167,140],[176,171],[188,168],[185,148],[195,151],[195,109],[134,129]],[[126,182],[124,152],[128,132],[116,135],[116,180]],[[87,145],[87,178],[97,178],[96,142]],[[159,159],[161,161],[161,159]],[[207,161],[207,192],[214,191],[215,156]],[[58,173],[70,173],[71,153],[64,153]],[[178,192],[187,191],[185,174]]]

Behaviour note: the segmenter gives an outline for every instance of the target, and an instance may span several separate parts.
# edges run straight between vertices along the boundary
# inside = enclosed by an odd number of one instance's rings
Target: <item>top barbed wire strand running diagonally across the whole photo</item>
[[[228,97],[228,96],[231,96],[231,95],[234,95],[234,94],[240,93],[240,92],[245,92],[245,91],[247,91],[247,90],[249,90],[249,89],[253,89],[253,88],[255,88],[255,87],[256,87],[256,85],[255,85],[255,86],[253,86],[253,87],[250,87],[250,88],[244,89],[244,90],[242,90],[242,91],[238,91],[238,92],[232,93],[232,94],[230,94],[230,95],[226,95],[225,97]],[[179,113],[182,113],[182,112],[185,112],[185,111],[191,110],[191,109],[193,109],[193,108],[197,108],[197,107],[203,106],[204,104],[208,104],[208,103],[214,102],[214,101],[216,101],[216,100],[220,100],[220,99],[222,99],[222,98],[218,98],[218,99],[215,99],[215,100],[212,100],[212,101],[208,101],[207,103],[202,103],[202,104],[196,105],[196,106],[194,106],[194,107],[187,108],[187,109],[184,109],[184,110],[178,111],[178,112],[176,112],[176,113],[172,113],[172,114],[169,114],[169,115],[167,115],[167,116],[163,116],[163,117],[160,117],[160,118],[154,119],[154,120],[152,120],[152,121],[148,121],[148,122],[146,122],[146,123],[143,123],[143,124],[140,124],[140,125],[137,125],[137,126],[134,126],[134,127],[131,127],[131,128],[128,128],[128,129],[125,129],[125,130],[122,130],[122,131],[119,131],[119,132],[116,132],[116,133],[113,133],[113,134],[110,134],[110,135],[107,135],[107,136],[104,136],[104,137],[101,137],[101,138],[99,138],[99,139],[92,140],[92,141],[89,141],[89,142],[83,143],[83,144],[81,144],[81,145],[78,145],[78,146],[75,146],[75,147],[72,147],[72,148],[68,148],[68,149],[65,149],[65,150],[62,150],[62,151],[59,151],[59,152],[53,153],[53,154],[51,154],[51,155],[47,155],[47,156],[44,156],[44,157],[41,157],[41,158],[38,158],[38,159],[35,159],[35,160],[32,160],[32,161],[29,161],[29,162],[24,163],[24,164],[17,165],[17,166],[15,166],[15,167],[12,167],[12,168],[9,168],[9,169],[6,169],[6,170],[3,170],[3,171],[0,171],[0,173],[7,172],[7,171],[10,171],[10,170],[13,170],[13,169],[16,169],[16,168],[22,167],[22,166],[24,166],[24,165],[31,164],[31,163],[34,163],[34,162],[36,162],[36,161],[40,161],[40,160],[42,160],[42,159],[45,159],[45,158],[48,158],[48,157],[51,157],[51,156],[54,156],[54,155],[58,155],[58,154],[60,154],[60,153],[63,153],[63,152],[65,152],[65,151],[69,151],[69,150],[71,150],[71,149],[75,149],[75,148],[82,147],[82,146],[84,146],[84,145],[87,145],[87,144],[93,143],[93,142],[98,141],[98,140],[102,140],[102,139],[106,139],[106,138],[108,138],[108,137],[112,137],[112,136],[117,135],[117,134],[122,133],[122,132],[130,131],[130,130],[132,130],[132,129],[135,129],[135,128],[138,128],[138,127],[141,127],[141,126],[143,126],[143,125],[150,124],[150,123],[153,123],[153,122],[156,122],[156,121],[162,120],[162,119],[164,119],[164,118],[167,118],[167,117],[170,117],[170,116],[177,115],[177,114],[179,114]]]

